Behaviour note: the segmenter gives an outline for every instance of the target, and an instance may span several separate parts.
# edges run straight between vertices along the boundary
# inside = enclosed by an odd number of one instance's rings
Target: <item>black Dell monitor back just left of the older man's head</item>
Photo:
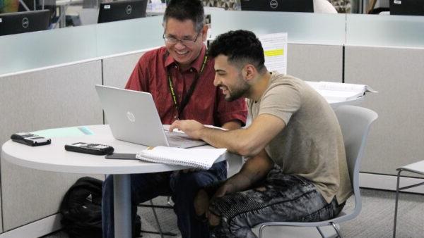
[[[147,0],[115,1],[100,4],[98,23],[146,17]]]

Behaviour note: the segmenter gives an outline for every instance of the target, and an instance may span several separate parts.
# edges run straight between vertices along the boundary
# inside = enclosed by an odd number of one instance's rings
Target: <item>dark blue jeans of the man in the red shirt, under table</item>
[[[213,164],[210,170],[182,173],[146,173],[131,175],[131,214],[134,221],[137,204],[156,196],[169,194],[174,201],[177,224],[182,237],[209,237],[208,225],[196,219],[194,212],[194,196],[201,187],[225,180],[227,177],[226,162]],[[134,223],[133,223],[134,224]],[[103,237],[114,237],[113,213],[113,176],[103,182],[102,191],[102,229]],[[117,237],[119,238],[119,237]]]

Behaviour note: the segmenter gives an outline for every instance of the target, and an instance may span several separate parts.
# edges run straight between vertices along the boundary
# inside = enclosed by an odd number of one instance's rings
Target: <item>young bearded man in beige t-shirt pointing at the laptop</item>
[[[245,96],[247,129],[222,131],[194,120],[173,128],[247,156],[239,173],[199,191],[197,215],[215,237],[255,237],[250,227],[271,221],[334,218],[352,194],[343,137],[334,111],[308,84],[269,72],[264,50],[249,31],[220,35],[210,46],[214,84],[225,99]]]

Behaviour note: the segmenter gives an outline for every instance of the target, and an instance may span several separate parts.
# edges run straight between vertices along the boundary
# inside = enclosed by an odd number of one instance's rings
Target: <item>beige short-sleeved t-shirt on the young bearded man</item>
[[[312,181],[327,202],[343,203],[352,194],[340,125],[326,100],[302,80],[273,72],[257,102],[248,100],[252,118],[275,115],[284,129],[265,147],[285,174]]]

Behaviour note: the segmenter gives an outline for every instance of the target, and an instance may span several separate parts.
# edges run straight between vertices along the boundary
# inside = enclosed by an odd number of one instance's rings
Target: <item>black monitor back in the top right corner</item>
[[[390,15],[424,15],[424,0],[389,0]]]

